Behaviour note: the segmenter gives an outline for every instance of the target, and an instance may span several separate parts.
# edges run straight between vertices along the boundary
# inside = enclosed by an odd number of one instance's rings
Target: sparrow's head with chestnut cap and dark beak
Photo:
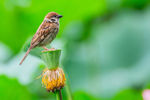
[[[59,21],[59,18],[61,18],[62,15],[59,15],[55,12],[50,12],[45,16],[45,19],[48,19],[50,22],[56,23]]]

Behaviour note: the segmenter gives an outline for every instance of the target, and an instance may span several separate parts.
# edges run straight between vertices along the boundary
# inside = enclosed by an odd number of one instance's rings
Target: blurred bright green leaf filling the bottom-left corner
[[[32,94],[25,86],[16,79],[0,76],[0,99],[1,100],[33,100]]]

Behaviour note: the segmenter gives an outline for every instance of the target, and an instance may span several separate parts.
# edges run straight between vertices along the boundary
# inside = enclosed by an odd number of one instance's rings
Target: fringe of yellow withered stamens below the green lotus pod
[[[65,74],[63,69],[45,69],[42,73],[42,84],[48,90],[54,92],[65,85]]]

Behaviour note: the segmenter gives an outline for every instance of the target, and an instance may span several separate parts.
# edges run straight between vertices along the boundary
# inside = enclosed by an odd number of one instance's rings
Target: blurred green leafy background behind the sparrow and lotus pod
[[[149,0],[0,0],[1,100],[55,100],[36,79],[38,49],[18,65],[51,11],[63,15],[51,46],[74,100],[150,100]]]

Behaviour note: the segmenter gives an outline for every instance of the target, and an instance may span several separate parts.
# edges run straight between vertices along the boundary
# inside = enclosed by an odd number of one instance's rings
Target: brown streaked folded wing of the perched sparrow
[[[43,22],[39,29],[37,30],[36,34],[33,36],[31,41],[31,46],[36,47],[41,41],[45,39],[45,37],[50,33],[51,25],[46,24]]]

